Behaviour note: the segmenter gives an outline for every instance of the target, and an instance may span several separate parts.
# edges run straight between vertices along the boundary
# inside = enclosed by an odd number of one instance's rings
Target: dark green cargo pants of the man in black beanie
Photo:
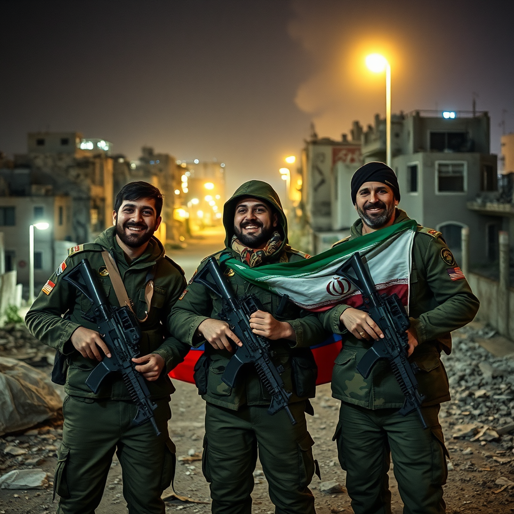
[[[394,476],[403,514],[442,514],[443,485],[448,469],[439,406],[421,408],[427,429],[416,412],[403,417],[398,409],[365,409],[341,402],[337,441],[339,463],[346,470],[346,489],[355,514],[390,514],[389,476]]]

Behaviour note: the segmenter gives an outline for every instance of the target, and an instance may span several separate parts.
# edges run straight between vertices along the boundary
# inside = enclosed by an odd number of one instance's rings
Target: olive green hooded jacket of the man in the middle
[[[224,252],[228,252],[235,259],[240,259],[239,254],[231,250],[230,243],[233,235],[235,204],[238,198],[245,196],[265,199],[279,214],[279,230],[282,231],[284,240],[281,247],[265,261],[265,264],[305,259],[304,254],[291,249],[287,244],[287,222],[277,194],[266,182],[259,180],[246,182],[225,204],[224,225],[227,237]],[[221,253],[215,254],[216,259],[219,259]],[[205,264],[206,260],[202,261],[198,271]],[[317,316],[291,302],[285,303],[284,308],[279,309],[281,297],[246,282],[234,274],[230,268],[224,268],[222,265],[222,270],[237,297],[255,295],[263,304],[265,311],[271,313],[279,321],[290,323],[295,330],[296,341],[285,339],[270,341],[272,360],[277,366],[281,364],[284,367],[281,375],[284,387],[293,393],[289,399],[290,403],[314,397],[317,369],[308,346],[323,341],[328,335]],[[204,378],[207,379],[207,388],[202,397],[209,403],[232,410],[237,410],[243,405],[269,405],[270,396],[251,364],[243,366],[237,375],[236,386],[230,388],[221,378],[225,366],[233,354],[227,350],[215,350],[209,343],[195,336],[201,322],[208,318],[221,319],[221,313],[221,300],[205,286],[190,281],[170,315],[171,331],[176,338],[194,347],[205,343],[204,355],[208,361],[205,363]],[[292,372],[292,368],[294,368],[294,372]],[[200,368],[197,373],[201,373],[201,371]],[[195,375],[195,380],[198,386],[197,375]]]

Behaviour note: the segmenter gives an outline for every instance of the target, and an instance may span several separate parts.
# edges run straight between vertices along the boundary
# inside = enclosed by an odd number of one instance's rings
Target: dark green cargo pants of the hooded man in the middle
[[[292,425],[282,409],[266,406],[237,411],[206,405],[203,472],[210,482],[214,514],[251,514],[253,471],[257,455],[276,514],[314,514],[310,484],[317,463],[307,432],[305,402],[289,405]],[[319,474],[319,470],[318,474]]]

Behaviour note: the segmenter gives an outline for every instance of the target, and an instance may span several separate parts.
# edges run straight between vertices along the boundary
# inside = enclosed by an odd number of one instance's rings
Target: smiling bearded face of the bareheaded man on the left
[[[157,216],[153,198],[141,198],[124,200],[118,212],[113,212],[113,222],[118,243],[128,248],[140,248],[150,241],[160,225],[161,217]]]

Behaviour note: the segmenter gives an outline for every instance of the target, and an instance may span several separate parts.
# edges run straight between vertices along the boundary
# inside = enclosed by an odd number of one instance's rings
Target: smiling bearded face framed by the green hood
[[[259,198],[243,198],[235,206],[234,233],[249,248],[264,248],[277,224],[277,214]]]

